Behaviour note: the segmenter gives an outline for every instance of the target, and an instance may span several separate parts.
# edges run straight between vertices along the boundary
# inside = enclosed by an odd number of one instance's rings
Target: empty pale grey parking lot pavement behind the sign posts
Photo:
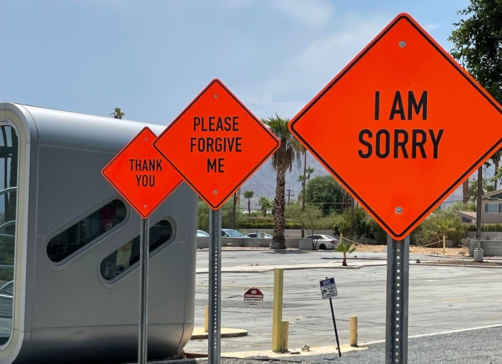
[[[284,272],[283,320],[290,321],[289,347],[334,343],[328,300],[321,298],[319,280],[334,277],[338,297],[333,299],[340,342],[348,343],[349,316],[358,316],[358,342],[385,339],[385,253],[354,253],[358,258],[341,268],[333,251],[275,252],[272,250],[222,252],[221,324],[243,328],[248,336],[222,338],[222,352],[270,350],[273,289],[263,288],[264,303],[248,308],[243,302],[247,286],[272,287],[271,267]],[[423,265],[430,257],[410,255],[409,335],[502,323],[502,284],[497,268]],[[207,304],[208,252],[197,252],[195,325],[204,325]],[[301,268],[301,269],[295,269]],[[205,271],[205,272],[204,272]],[[447,344],[447,343],[446,343]],[[207,340],[192,340],[190,352],[207,350]]]

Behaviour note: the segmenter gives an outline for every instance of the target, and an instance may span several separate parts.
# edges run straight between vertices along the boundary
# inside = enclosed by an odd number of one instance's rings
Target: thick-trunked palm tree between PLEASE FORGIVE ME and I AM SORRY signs
[[[271,116],[262,121],[276,134],[281,140],[281,146],[272,156],[272,166],[277,171],[276,200],[274,214],[274,236],[272,238],[272,249],[285,249],[286,239],[284,238],[284,229],[286,220],[284,218],[285,208],[285,187],[286,170],[293,167],[293,161],[296,159],[300,163],[300,153],[297,152],[298,141],[288,129],[289,119],[282,119],[279,115]]]

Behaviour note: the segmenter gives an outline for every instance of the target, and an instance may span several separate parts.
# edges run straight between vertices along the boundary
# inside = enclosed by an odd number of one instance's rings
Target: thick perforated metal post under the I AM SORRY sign
[[[408,281],[410,237],[387,236],[386,364],[408,363]]]

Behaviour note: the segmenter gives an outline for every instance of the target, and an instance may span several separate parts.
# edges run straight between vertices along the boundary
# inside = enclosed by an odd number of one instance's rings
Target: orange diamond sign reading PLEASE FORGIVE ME
[[[215,79],[154,145],[211,209],[218,210],[280,142]]]

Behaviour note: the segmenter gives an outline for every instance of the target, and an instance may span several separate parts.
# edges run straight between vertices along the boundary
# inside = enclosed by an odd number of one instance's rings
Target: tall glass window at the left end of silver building
[[[18,141],[18,135],[12,126],[0,126],[0,168],[3,168],[0,177],[0,345],[7,343],[12,334]]]

